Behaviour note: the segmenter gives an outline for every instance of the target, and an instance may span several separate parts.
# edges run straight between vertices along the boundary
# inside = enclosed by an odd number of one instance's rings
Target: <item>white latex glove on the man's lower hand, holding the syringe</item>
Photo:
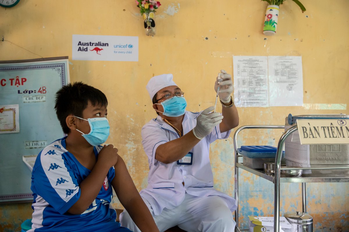
[[[214,106],[210,106],[203,110],[198,118],[196,118],[196,126],[193,129],[193,134],[196,138],[205,138],[205,136],[211,133],[215,126],[222,122],[223,115],[220,115],[220,113],[217,112],[210,113],[214,109]]]

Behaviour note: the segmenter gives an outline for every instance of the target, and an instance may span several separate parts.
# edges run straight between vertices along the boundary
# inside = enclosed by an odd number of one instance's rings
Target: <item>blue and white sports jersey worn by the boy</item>
[[[51,143],[42,150],[35,161],[31,176],[31,190],[34,196],[32,208],[32,229],[28,232],[86,232],[114,231],[120,227],[116,222],[116,211],[110,205],[113,198],[111,181],[115,176],[110,168],[96,199],[80,215],[67,210],[80,198],[80,183],[91,170],[82,166],[65,147],[65,138]],[[95,147],[98,152],[102,147]]]

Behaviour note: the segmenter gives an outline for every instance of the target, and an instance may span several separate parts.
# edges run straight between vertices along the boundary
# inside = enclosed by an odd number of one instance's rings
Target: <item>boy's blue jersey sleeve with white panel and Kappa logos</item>
[[[44,155],[46,152],[44,149],[39,154],[37,162],[41,165],[33,170],[35,191],[60,214],[64,214],[79,200],[79,184],[62,155]]]

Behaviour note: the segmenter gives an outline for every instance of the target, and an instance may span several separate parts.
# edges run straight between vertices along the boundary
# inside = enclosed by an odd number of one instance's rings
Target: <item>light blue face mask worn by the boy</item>
[[[76,117],[76,116],[74,116]],[[76,117],[79,118],[79,117]],[[83,119],[83,118],[80,118]],[[83,119],[86,120],[86,119]],[[88,118],[86,121],[88,121],[90,125],[90,133],[84,134],[80,130],[76,129],[79,131],[82,136],[86,139],[89,144],[92,146],[98,146],[101,145],[102,143],[105,143],[109,136],[109,122],[108,119],[103,117],[103,118]]]

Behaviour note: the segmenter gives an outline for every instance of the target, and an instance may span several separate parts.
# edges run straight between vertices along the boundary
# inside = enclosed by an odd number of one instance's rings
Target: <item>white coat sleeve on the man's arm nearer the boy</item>
[[[142,145],[148,160],[157,166],[158,161],[155,159],[155,153],[158,146],[169,142],[165,132],[158,125],[147,124],[142,128]]]

